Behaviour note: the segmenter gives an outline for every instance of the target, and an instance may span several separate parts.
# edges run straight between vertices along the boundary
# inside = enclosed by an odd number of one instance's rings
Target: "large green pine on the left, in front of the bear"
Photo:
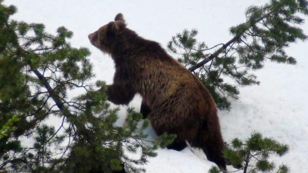
[[[108,108],[104,83],[90,83],[88,49],[71,47],[73,33],[63,26],[53,35],[43,24],[9,19],[16,7],[1,3],[0,172],[111,173],[123,172],[123,166],[144,171],[135,165],[174,136],[147,141],[143,130],[149,122],[132,109],[125,124],[115,126],[118,109]],[[76,88],[83,94],[69,98]],[[62,121],[44,125],[48,117]],[[26,146],[22,138],[34,144]],[[137,150],[138,159],[126,156]]]

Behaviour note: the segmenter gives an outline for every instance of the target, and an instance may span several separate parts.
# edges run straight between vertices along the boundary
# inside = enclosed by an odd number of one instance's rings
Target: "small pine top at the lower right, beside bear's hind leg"
[[[264,138],[260,133],[253,133],[245,142],[234,138],[224,151],[224,158],[242,173],[289,173],[286,165],[275,170],[275,164],[269,162],[271,155],[281,157],[288,152],[288,146],[271,138]],[[235,171],[235,172],[237,172]],[[209,173],[219,173],[212,167]]]

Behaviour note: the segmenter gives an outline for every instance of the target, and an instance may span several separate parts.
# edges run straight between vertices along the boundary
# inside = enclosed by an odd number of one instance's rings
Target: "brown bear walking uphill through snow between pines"
[[[201,148],[209,161],[225,169],[216,105],[197,77],[157,42],[126,28],[121,13],[88,38],[114,60],[113,84],[107,86],[109,101],[128,104],[136,93],[140,94],[141,111],[148,113],[157,135],[176,134],[168,149],[182,150],[186,140],[192,147]]]

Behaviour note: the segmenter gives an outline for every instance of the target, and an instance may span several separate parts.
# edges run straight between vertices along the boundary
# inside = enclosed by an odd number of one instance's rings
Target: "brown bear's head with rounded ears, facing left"
[[[98,28],[97,31],[90,33],[88,38],[92,45],[101,51],[111,54],[117,43],[120,32],[126,27],[125,20],[121,13],[116,14],[114,21],[110,21]]]

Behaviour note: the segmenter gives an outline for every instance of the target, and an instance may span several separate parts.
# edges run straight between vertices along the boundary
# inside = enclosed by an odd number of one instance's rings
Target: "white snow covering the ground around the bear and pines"
[[[74,32],[71,44],[88,47],[92,52],[96,79],[112,83],[113,62],[91,46],[87,35],[113,20],[122,12],[127,27],[139,35],[159,42],[167,41],[184,28],[197,28],[198,38],[212,46],[231,38],[228,28],[245,20],[249,5],[267,0],[5,0],[14,4],[16,20],[44,23],[48,32],[64,25]],[[307,19],[307,18],[306,18]],[[302,25],[308,33],[308,23]],[[230,111],[220,111],[220,125],[225,141],[246,139],[251,132],[261,132],[288,144],[289,153],[274,162],[285,163],[291,173],[308,172],[308,43],[298,42],[287,49],[297,65],[267,62],[254,72],[259,86],[240,88],[240,99],[231,101]],[[71,93],[77,95],[78,93]],[[130,106],[139,109],[140,97]],[[120,112],[121,123],[125,108]],[[54,120],[56,121],[56,120]],[[60,120],[59,120],[60,121]],[[56,122],[54,122],[56,123]],[[189,148],[181,152],[159,149],[156,158],[144,167],[147,173],[206,173],[211,163]]]

